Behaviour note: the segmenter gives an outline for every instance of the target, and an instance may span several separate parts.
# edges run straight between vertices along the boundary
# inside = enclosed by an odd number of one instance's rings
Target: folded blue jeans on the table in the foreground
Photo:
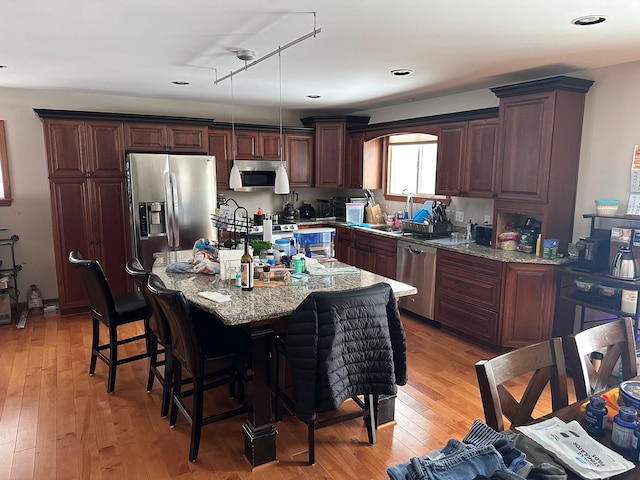
[[[391,480],[473,480],[477,475],[489,477],[496,471],[507,470],[493,445],[476,447],[450,439],[440,454],[435,459],[433,455],[414,457],[389,467],[387,474]]]

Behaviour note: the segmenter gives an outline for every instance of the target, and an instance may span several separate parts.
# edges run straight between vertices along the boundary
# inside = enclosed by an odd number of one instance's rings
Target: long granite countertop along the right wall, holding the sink
[[[441,248],[443,250],[449,250],[452,252],[463,253],[466,255],[473,255],[474,257],[487,258],[489,260],[496,260],[504,263],[532,263],[540,265],[564,265],[567,263],[573,263],[575,259],[570,257],[561,257],[553,260],[546,260],[544,258],[536,257],[529,253],[522,253],[518,251],[501,250],[498,248],[486,247],[484,245],[478,245],[475,242],[471,243],[448,243],[445,239],[424,239],[412,235],[402,235],[400,232],[386,232],[384,230],[376,230],[373,228],[359,227],[349,225],[346,222],[339,220],[303,220],[298,223],[298,226],[317,226],[317,225],[330,225],[333,227],[347,227],[357,230],[359,232],[370,233],[371,235],[380,235],[387,238],[393,238],[396,240],[405,240],[412,243],[418,243],[420,245],[426,245],[435,248]]]

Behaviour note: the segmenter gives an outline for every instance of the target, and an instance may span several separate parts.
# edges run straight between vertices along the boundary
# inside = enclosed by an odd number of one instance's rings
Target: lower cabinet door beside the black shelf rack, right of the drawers
[[[555,277],[553,265],[507,265],[500,345],[518,348],[551,338]]]

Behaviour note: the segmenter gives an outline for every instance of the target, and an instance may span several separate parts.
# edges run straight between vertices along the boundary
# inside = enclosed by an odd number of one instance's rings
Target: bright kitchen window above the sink
[[[415,133],[391,135],[388,142],[385,196],[404,200],[443,198],[435,195],[438,137]]]

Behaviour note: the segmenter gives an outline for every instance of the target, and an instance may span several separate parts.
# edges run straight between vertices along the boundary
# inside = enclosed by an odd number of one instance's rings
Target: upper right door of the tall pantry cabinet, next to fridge
[[[124,125],[121,122],[86,122],[89,172],[124,177]]]

